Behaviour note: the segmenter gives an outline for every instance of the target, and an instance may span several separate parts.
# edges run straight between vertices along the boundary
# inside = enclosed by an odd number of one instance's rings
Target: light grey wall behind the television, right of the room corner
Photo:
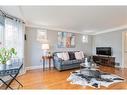
[[[122,66],[122,32],[114,31],[93,36],[93,54],[96,54],[96,47],[112,47],[112,56],[116,57],[116,63]]]

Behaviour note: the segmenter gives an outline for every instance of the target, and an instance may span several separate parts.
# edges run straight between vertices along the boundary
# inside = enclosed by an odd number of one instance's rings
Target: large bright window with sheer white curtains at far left
[[[0,16],[0,47],[15,48],[17,57],[24,57],[25,26],[16,19]]]

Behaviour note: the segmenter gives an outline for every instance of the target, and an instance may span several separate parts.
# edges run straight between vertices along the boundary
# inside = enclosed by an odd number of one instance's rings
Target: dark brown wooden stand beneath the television
[[[93,61],[99,65],[115,67],[115,57],[94,55]]]

